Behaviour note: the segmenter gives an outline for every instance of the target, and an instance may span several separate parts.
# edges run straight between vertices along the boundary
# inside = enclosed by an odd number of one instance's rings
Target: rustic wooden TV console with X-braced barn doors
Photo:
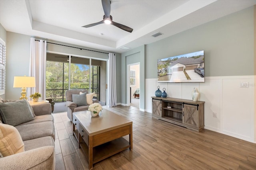
[[[204,130],[204,103],[152,97],[152,117],[200,132]]]

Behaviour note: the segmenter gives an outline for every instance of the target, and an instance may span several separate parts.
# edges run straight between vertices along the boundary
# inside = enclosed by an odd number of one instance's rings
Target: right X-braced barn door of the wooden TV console
[[[193,127],[199,127],[198,106],[184,104],[182,123]]]

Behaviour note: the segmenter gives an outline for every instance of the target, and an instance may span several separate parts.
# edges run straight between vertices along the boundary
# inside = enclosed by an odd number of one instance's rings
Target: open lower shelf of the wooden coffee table
[[[89,161],[88,146],[86,145],[84,140],[81,140],[80,148],[83,150],[87,160]],[[94,147],[92,163],[94,164],[96,162],[99,162],[105,158],[108,158],[109,156],[112,156],[128,148],[130,148],[129,142],[126,141],[126,139],[124,139],[123,137]]]

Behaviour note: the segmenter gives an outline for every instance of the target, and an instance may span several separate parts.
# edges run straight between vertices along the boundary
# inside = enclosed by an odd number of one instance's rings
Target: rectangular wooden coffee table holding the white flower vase
[[[73,134],[88,160],[89,169],[122,150],[132,150],[132,121],[107,109],[96,117],[91,117],[89,111],[74,112]],[[126,135],[129,141],[123,138]]]

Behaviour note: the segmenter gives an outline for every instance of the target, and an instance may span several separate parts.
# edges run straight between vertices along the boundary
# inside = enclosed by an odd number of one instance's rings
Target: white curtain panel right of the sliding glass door
[[[108,107],[116,106],[116,55],[108,54]]]

